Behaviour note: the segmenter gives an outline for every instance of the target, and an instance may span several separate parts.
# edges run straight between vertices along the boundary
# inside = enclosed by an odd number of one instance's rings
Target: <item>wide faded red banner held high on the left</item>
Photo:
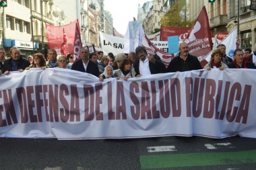
[[[74,41],[76,37],[76,25],[77,32],[79,32],[80,34],[79,23],[77,19],[74,22],[71,22],[70,24],[64,26],[51,26],[49,24],[46,24],[46,36],[49,48],[55,49],[57,51],[57,54],[61,54],[61,51],[64,52],[64,50],[66,50],[66,54],[73,53]]]

